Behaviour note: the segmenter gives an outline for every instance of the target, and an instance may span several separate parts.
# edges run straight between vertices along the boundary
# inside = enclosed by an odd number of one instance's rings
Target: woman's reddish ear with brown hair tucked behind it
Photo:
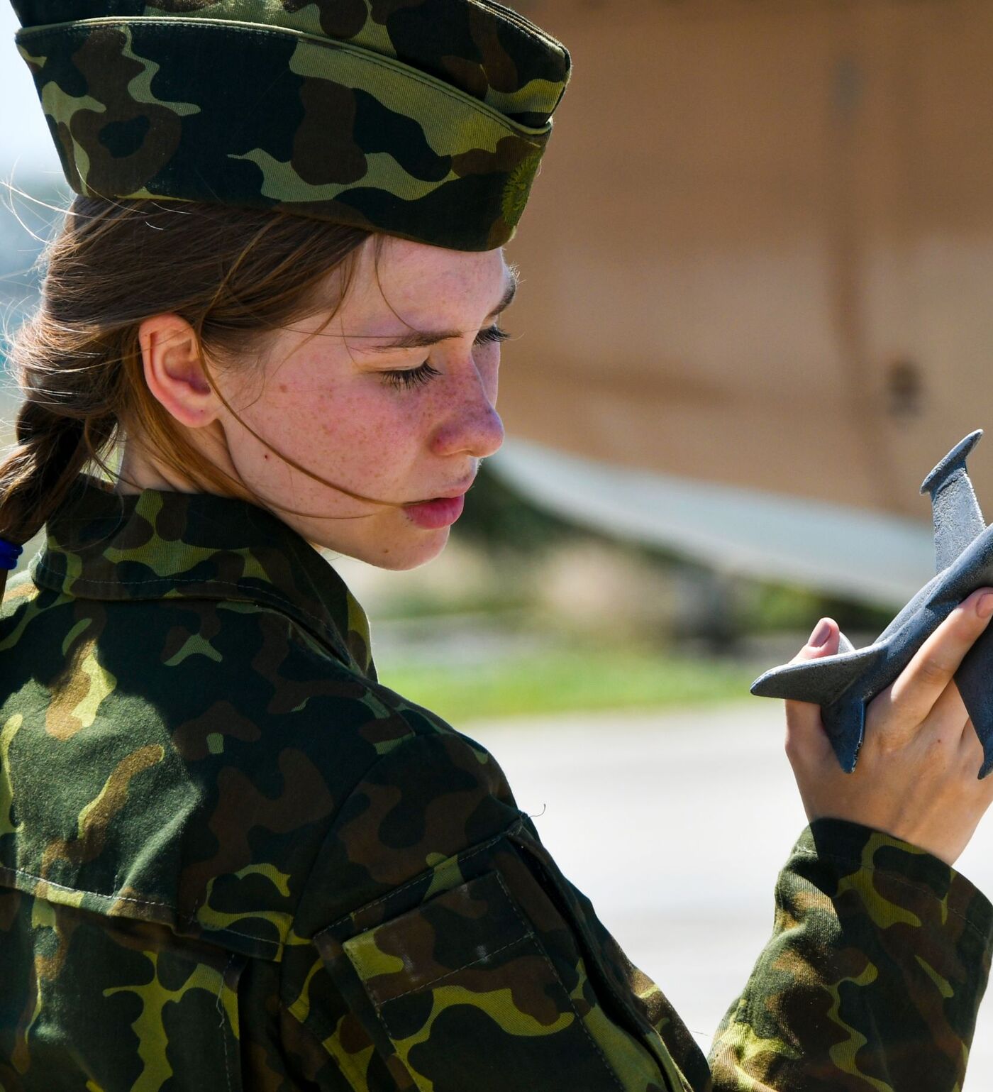
[[[178,314],[156,314],[137,328],[152,394],[188,428],[216,420],[220,400],[211,388],[198,355],[196,331]]]

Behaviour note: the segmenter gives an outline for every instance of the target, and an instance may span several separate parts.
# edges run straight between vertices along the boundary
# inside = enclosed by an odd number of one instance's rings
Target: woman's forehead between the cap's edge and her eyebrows
[[[471,330],[500,302],[510,278],[502,249],[447,250],[388,236],[376,256],[369,239],[338,317],[356,333]]]

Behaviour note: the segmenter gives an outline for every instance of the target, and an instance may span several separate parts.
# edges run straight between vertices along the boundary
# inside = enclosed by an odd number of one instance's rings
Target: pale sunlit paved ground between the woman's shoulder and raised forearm
[[[706,1049],[764,945],[803,809],[778,702],[463,725],[494,752],[563,871]],[[564,756],[564,759],[563,759]],[[993,818],[957,867],[993,893]],[[993,1000],[965,1092],[993,1088]]]

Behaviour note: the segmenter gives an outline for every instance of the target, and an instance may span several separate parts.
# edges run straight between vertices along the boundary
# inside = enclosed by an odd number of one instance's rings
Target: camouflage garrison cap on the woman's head
[[[76,193],[514,234],[570,73],[492,0],[13,0]]]

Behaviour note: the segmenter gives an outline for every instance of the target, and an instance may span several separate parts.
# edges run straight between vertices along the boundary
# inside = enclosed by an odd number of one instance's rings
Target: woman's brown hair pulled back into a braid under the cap
[[[115,476],[107,458],[127,429],[205,491],[250,499],[199,455],[148,390],[139,324],[181,316],[210,376],[205,354],[258,351],[266,331],[323,308],[333,313],[371,234],[282,212],[75,197],[38,260],[37,310],[10,339],[24,401],[16,444],[0,463],[0,537],[22,544],[36,534],[81,471]],[[327,299],[333,271],[337,298]],[[0,593],[4,578],[0,570]]]

